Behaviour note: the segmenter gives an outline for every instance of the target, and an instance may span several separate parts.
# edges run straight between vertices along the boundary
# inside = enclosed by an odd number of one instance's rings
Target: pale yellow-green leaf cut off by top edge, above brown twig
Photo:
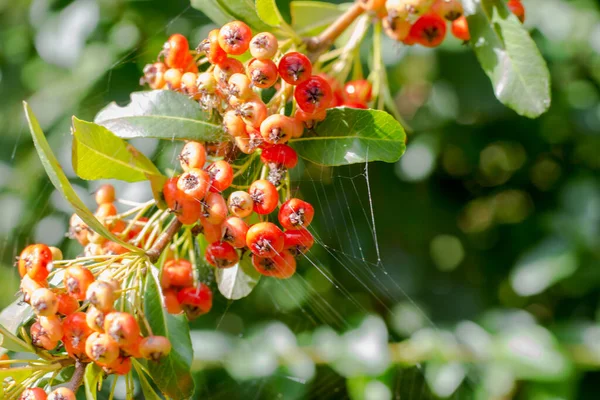
[[[322,1],[292,1],[292,28],[298,35],[314,36],[327,28],[346,11],[351,3],[331,4]]]

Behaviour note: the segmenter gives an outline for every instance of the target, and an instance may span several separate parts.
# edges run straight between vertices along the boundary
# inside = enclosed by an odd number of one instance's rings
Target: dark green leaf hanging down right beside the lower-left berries
[[[171,341],[171,352],[158,362],[148,362],[148,371],[158,388],[174,399],[187,399],[194,393],[190,373],[193,358],[188,321],[183,315],[171,315],[162,305],[158,269],[151,267],[146,277],[144,312],[154,335]]]

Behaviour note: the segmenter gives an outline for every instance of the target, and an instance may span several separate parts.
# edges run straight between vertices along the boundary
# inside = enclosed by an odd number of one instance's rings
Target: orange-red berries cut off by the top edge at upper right
[[[452,34],[469,40],[467,19],[460,0],[360,0],[361,5],[383,19],[386,34],[406,45],[437,47],[446,37],[446,21]],[[525,8],[521,0],[508,0],[508,8],[521,22]]]

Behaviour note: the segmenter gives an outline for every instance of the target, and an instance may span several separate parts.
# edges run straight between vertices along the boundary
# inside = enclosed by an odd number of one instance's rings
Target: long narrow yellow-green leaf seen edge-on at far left
[[[46,170],[46,174],[48,174],[48,178],[71,206],[75,209],[75,212],[79,217],[85,222],[92,230],[105,237],[108,240],[119,243],[123,247],[133,251],[140,252],[141,250],[137,247],[126,243],[113,235],[108,229],[104,227],[94,217],[92,212],[85,206],[85,204],[81,201],[75,190],[69,183],[67,176],[64,171],[60,167],[58,160],[52,153],[52,149],[44,136],[44,132],[42,132],[42,128],[40,128],[40,124],[38,123],[33,111],[27,104],[27,102],[23,102],[23,107],[25,109],[25,116],[27,117],[27,122],[29,123],[29,130],[31,131],[31,137],[33,138],[33,143],[38,152],[38,156],[40,157],[40,161]]]

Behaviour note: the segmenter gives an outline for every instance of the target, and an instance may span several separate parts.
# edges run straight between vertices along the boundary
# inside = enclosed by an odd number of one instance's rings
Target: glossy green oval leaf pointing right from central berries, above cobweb
[[[396,162],[406,149],[402,126],[378,110],[338,107],[313,132],[290,142],[298,155],[319,165]]]

